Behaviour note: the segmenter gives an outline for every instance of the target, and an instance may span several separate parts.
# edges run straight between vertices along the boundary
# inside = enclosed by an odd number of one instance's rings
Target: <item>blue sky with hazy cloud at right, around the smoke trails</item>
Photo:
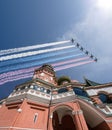
[[[100,1],[0,0],[0,50],[74,37],[99,60],[60,71],[57,76],[68,75],[80,82],[83,76],[99,83],[111,82],[112,6],[101,6]],[[0,97],[24,81],[0,86]]]

